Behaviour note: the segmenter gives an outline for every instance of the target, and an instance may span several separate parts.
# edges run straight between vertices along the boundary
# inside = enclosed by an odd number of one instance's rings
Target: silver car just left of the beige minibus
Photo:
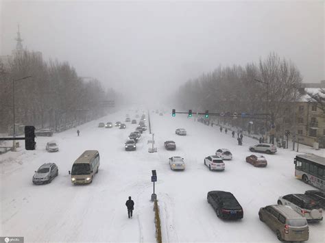
[[[35,171],[33,176],[34,184],[50,183],[54,177],[59,175],[58,166],[55,163],[43,164]]]

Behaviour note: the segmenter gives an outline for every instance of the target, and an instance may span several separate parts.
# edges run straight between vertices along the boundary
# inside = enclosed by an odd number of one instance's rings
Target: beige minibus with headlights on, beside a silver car
[[[73,163],[71,182],[73,184],[92,183],[93,177],[98,173],[99,152],[97,150],[86,150]]]

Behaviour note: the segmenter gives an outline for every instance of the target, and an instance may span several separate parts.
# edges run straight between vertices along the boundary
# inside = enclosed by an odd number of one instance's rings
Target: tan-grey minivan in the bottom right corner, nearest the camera
[[[306,218],[284,205],[261,207],[258,216],[262,222],[276,233],[278,240],[305,241],[309,239]]]

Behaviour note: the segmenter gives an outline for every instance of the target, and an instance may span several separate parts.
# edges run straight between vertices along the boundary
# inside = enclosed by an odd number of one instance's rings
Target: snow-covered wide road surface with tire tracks
[[[162,218],[163,242],[278,242],[276,235],[258,220],[258,209],[276,204],[278,196],[303,193],[313,187],[294,177],[290,149],[265,155],[267,168],[245,163],[248,146],[256,140],[243,138],[243,146],[219,127],[208,127],[193,118],[150,112],[158,153],[148,153],[149,131],[141,136],[136,151],[124,151],[124,142],[136,125],[127,129],[98,128],[99,122],[125,120],[123,110],[55,134],[37,138],[38,149],[0,155],[1,236],[24,236],[27,242],[154,242],[151,170],[156,169],[156,194]],[[139,118],[136,118],[139,120]],[[187,136],[176,136],[184,127]],[[76,130],[80,130],[77,137]],[[47,153],[45,144],[58,142],[58,153]],[[175,140],[176,151],[166,151],[163,142]],[[207,155],[228,148],[234,159],[224,172],[211,172],[203,164]],[[101,156],[99,173],[92,184],[73,186],[68,170],[86,149],[97,149]],[[324,156],[300,145],[300,152]],[[171,171],[168,158],[184,157],[186,170]],[[34,186],[32,176],[41,164],[58,164],[59,176],[50,184]],[[217,218],[206,201],[210,190],[226,190],[237,197],[244,209],[243,220]],[[128,219],[125,201],[132,196],[134,216]],[[325,242],[324,222],[309,225],[308,242]]]

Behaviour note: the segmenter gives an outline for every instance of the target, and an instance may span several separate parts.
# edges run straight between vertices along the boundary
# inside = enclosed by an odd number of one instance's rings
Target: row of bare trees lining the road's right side
[[[210,112],[274,114],[274,123],[282,118],[298,99],[302,76],[290,60],[270,53],[258,64],[219,66],[213,72],[187,81],[178,90],[183,109]],[[295,92],[296,90],[296,92]],[[225,122],[247,129],[248,119],[222,118]],[[254,120],[254,129],[268,130],[264,120]],[[278,125],[278,124],[276,124]],[[280,126],[277,127],[280,129]]]

